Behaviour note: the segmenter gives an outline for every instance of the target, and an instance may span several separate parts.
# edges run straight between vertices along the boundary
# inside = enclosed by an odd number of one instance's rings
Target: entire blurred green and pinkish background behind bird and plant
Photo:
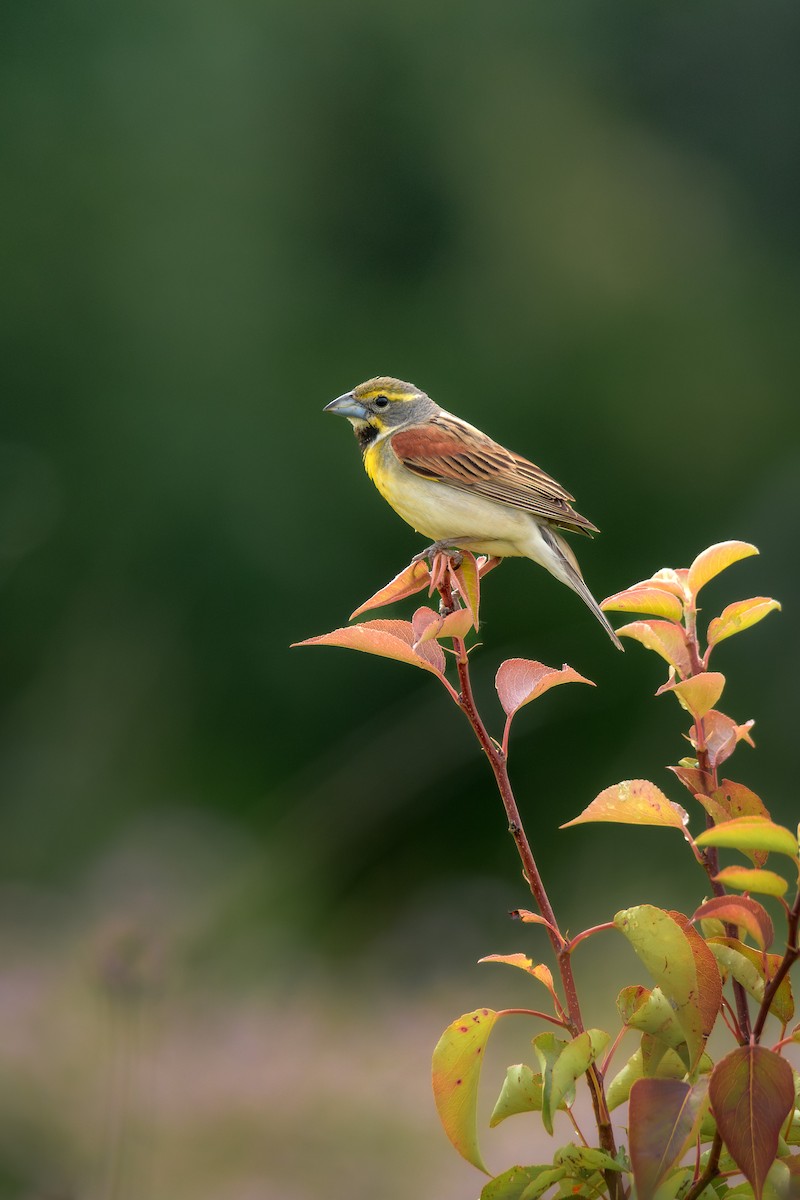
[[[361,379],[575,492],[599,596],[758,545],[706,614],[784,604],[716,667],[796,817],[799,49],[790,0],[5,6],[0,1195],[479,1190],[427,1069],[545,954],[503,812],[428,677],[288,648],[421,547],[321,415]],[[483,605],[487,712],[510,655],[599,685],[513,740],[564,924],[697,904],[679,838],[558,833],[682,799],[660,661],[529,563]]]

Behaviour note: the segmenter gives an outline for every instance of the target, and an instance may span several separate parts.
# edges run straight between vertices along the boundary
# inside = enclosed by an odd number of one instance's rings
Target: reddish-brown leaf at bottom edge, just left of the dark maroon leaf
[[[639,1079],[631,1087],[628,1136],[638,1200],[651,1200],[693,1139],[706,1099],[705,1080]]]

